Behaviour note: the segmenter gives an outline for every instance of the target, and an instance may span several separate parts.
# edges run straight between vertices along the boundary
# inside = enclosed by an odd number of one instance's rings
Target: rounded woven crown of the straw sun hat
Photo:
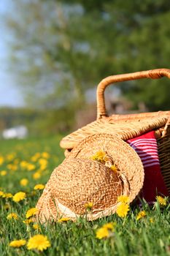
[[[76,214],[85,214],[85,204],[104,210],[117,202],[122,194],[118,173],[90,159],[67,159],[55,169],[52,192],[58,202]]]

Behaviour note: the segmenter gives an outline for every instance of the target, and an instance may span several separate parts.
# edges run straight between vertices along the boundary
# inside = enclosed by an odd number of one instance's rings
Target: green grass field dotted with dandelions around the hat
[[[114,214],[94,222],[55,222],[35,226],[26,221],[26,212],[34,208],[42,189],[63,159],[59,148],[60,136],[46,139],[10,140],[0,142],[0,255],[170,255],[169,202],[142,208],[130,206],[125,218]],[[12,195],[25,192],[23,200],[15,202]],[[10,195],[11,193],[12,195]],[[136,219],[139,211],[146,216]],[[13,214],[9,215],[9,214]],[[16,214],[16,215],[14,215]],[[98,229],[115,223],[106,238],[96,238]],[[47,236],[47,249],[28,249],[28,240],[36,234]],[[11,241],[23,239],[20,247],[9,246]]]

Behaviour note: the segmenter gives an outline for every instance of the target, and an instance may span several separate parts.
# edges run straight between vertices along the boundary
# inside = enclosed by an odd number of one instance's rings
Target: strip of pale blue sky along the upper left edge
[[[4,26],[4,15],[12,12],[12,0],[0,0],[0,106],[23,105],[15,78],[9,72],[9,30]]]

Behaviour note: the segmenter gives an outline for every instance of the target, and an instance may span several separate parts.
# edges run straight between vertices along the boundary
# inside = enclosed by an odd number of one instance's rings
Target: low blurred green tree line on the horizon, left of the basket
[[[73,118],[67,118],[70,110],[39,110],[33,108],[0,108],[0,138],[1,132],[10,127],[25,125],[30,136],[55,135],[56,131],[62,133],[74,126]]]

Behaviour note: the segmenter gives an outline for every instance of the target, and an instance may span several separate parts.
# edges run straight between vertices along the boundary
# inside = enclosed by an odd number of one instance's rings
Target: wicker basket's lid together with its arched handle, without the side
[[[111,75],[101,80],[97,88],[97,121],[88,124],[82,129],[72,132],[61,140],[60,146],[72,149],[77,143],[88,135],[96,132],[117,134],[123,140],[128,140],[152,129],[159,129],[166,124],[170,111],[159,111],[158,113],[141,113],[132,115],[112,115],[107,117],[104,91],[112,83],[127,80],[138,80],[143,78],[158,79],[163,76],[170,78],[170,69],[152,69],[142,72],[134,72],[123,75]],[[124,123],[125,122],[125,123]],[[128,122],[129,124],[127,124]],[[118,124],[117,124],[118,123]]]

